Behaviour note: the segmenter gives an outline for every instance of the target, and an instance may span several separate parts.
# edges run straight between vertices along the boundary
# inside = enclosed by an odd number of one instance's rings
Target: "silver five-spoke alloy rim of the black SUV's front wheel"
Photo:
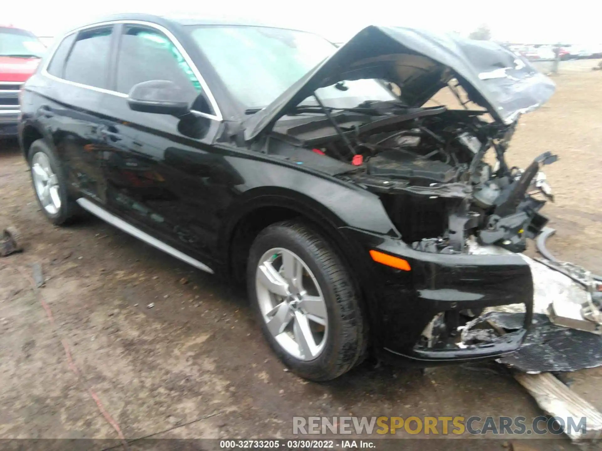
[[[261,316],[284,351],[314,360],[328,333],[326,302],[314,274],[299,256],[272,248],[259,259],[255,286]]]

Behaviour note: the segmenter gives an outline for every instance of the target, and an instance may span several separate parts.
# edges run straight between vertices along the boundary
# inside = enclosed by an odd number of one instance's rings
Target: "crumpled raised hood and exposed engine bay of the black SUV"
[[[379,92],[385,85],[388,97]],[[463,109],[426,106],[444,88]],[[244,137],[263,133],[262,152],[378,194],[416,250],[465,253],[477,236],[520,252],[547,222],[539,210],[552,197],[541,167],[556,156],[523,171],[505,153],[520,115],[554,89],[498,44],[369,26],[270,105],[250,110]],[[379,100],[353,105],[369,94]]]

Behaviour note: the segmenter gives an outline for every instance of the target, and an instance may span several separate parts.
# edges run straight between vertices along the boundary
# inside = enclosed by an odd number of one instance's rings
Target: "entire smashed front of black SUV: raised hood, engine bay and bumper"
[[[390,100],[350,105],[356,81],[388,89]],[[447,89],[458,109],[427,106]],[[496,357],[518,349],[532,321],[531,269],[517,253],[548,222],[540,210],[553,196],[542,168],[557,160],[547,152],[523,170],[506,150],[521,114],[553,92],[497,44],[368,27],[272,104],[250,110],[244,137],[252,149],[379,197],[399,238],[370,246],[412,268],[377,269],[386,351],[418,364]],[[508,254],[476,254],[472,245]],[[515,330],[482,316],[517,303],[524,313]]]

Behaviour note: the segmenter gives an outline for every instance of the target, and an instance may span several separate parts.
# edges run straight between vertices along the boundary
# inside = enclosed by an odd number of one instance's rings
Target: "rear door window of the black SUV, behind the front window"
[[[63,78],[106,88],[112,30],[113,26],[80,31],[67,57]]]

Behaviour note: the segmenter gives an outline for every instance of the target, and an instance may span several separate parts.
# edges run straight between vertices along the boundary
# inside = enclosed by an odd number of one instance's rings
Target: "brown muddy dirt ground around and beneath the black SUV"
[[[602,73],[588,63],[554,77],[556,94],[521,120],[508,158],[526,167],[547,150],[560,156],[545,169],[556,195],[544,210],[557,229],[550,249],[602,274]],[[128,440],[291,437],[293,416],[541,414],[495,364],[424,375],[363,364],[326,384],[297,378],[273,357],[243,292],[100,220],[49,224],[9,141],[0,143],[0,202],[0,225],[28,241],[0,259],[0,438],[116,439],[95,397]],[[23,276],[33,263],[46,278],[37,295]],[[601,369],[569,379],[602,410]],[[488,449],[507,449],[504,440]],[[530,442],[573,449],[563,438]]]

